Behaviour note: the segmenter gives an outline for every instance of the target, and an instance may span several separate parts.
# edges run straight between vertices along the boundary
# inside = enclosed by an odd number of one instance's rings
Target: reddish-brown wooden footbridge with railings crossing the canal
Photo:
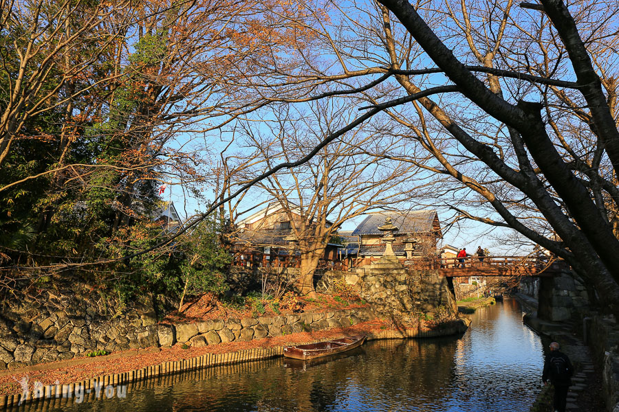
[[[437,258],[407,260],[414,269],[434,269],[446,277],[462,276],[536,276],[550,277],[568,266],[563,260],[532,258],[531,256],[468,256],[466,258]]]

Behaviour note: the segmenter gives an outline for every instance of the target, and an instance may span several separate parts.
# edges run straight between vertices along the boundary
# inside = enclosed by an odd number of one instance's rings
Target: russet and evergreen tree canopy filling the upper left
[[[242,83],[276,66],[292,42],[278,16],[295,13],[278,1],[0,0],[0,283],[169,237],[153,227],[158,188],[212,181],[210,130],[264,104]]]

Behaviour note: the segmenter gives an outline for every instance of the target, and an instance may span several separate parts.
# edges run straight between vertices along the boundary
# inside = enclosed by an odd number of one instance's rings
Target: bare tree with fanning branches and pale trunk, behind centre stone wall
[[[345,102],[310,104],[301,110],[283,106],[265,117],[261,127],[248,126],[244,135],[250,159],[261,159],[259,168],[248,168],[251,177],[275,163],[307,155],[316,143],[351,117]],[[403,144],[398,136],[386,137],[374,122],[343,135],[297,168],[272,174],[257,183],[283,208],[300,253],[298,288],[314,295],[312,278],[329,240],[346,220],[371,209],[390,209],[421,192],[418,168],[406,161],[382,156]],[[415,181],[419,179],[419,181]]]

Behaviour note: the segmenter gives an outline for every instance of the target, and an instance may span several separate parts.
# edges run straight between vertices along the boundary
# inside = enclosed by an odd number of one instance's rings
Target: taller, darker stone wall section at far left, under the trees
[[[0,314],[0,369],[62,361],[92,350],[158,346],[156,323],[149,299],[122,307],[118,299],[83,286],[47,291],[32,301],[7,301]]]

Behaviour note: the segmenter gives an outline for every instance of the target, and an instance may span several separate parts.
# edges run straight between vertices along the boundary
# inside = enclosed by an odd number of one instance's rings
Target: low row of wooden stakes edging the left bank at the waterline
[[[367,340],[433,338],[464,332],[467,327],[468,322],[464,320],[459,325],[425,332],[416,329],[384,330],[378,333],[367,333]],[[316,342],[318,341],[311,343]],[[133,384],[133,382],[140,382],[142,380],[177,374],[184,371],[195,371],[206,367],[232,365],[235,363],[279,357],[283,356],[283,348],[284,346],[277,346],[265,349],[256,348],[237,352],[225,352],[223,354],[204,354],[180,361],[162,362],[158,365],[133,369],[122,374],[102,375],[62,385],[41,385],[36,388],[28,387],[29,390],[23,393],[0,396],[0,411],[8,411],[26,402],[36,402],[37,404],[43,402],[43,404],[50,409],[54,409],[69,406],[69,404],[72,404],[75,400],[83,402],[85,400],[113,398],[115,391],[117,397],[124,398],[127,395],[127,386]],[[28,382],[26,383],[28,384]],[[46,408],[44,407],[44,409]]]

